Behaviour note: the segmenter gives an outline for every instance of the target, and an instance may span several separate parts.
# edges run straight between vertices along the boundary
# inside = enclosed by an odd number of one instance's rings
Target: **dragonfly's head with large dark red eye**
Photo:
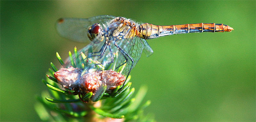
[[[102,42],[103,36],[102,36],[102,30],[99,23],[95,23],[92,26],[88,27],[87,36],[94,44],[98,44]]]

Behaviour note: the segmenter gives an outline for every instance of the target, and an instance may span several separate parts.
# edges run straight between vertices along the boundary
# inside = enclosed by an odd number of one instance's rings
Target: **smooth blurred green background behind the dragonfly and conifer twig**
[[[1,121],[41,121],[35,95],[50,67],[85,44],[60,38],[61,17],[114,15],[155,25],[223,23],[232,32],[189,33],[148,40],[154,54],[132,70],[146,85],[146,113],[156,121],[255,120],[254,1],[0,1]],[[59,65],[58,65],[59,66]],[[144,100],[144,101],[145,101]]]

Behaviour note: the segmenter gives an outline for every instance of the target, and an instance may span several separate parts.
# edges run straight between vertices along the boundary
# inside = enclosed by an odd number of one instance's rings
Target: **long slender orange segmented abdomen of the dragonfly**
[[[197,23],[197,24],[184,24],[184,25],[153,25],[144,23],[139,26],[140,38],[154,39],[161,36],[189,33],[189,32],[230,32],[234,30],[232,27],[223,24],[215,23]]]

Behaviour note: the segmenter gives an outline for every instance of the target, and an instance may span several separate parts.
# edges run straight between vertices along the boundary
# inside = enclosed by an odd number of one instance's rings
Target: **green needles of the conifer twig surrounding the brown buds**
[[[83,51],[84,53],[92,53],[92,46],[88,47],[87,51]],[[123,66],[120,66],[116,69],[118,52],[114,55],[114,62],[111,64],[106,64],[105,67],[103,65],[95,65],[100,62],[93,61],[91,58],[86,57],[83,52],[77,52],[76,47],[74,48],[74,54],[68,52],[68,56],[70,59],[70,65],[74,68],[83,68],[81,75],[84,75],[88,69],[89,71],[98,71],[98,70],[116,70],[119,73],[122,73],[124,68],[126,67],[126,63]],[[60,55],[56,53],[56,57],[62,66],[66,67],[66,64],[61,59]],[[79,59],[79,57],[81,59]],[[75,58],[75,59],[73,59]],[[106,57],[105,57],[106,58]],[[76,61],[74,61],[76,60]],[[87,60],[87,61],[86,61]],[[108,59],[103,59],[107,61]],[[76,63],[75,63],[76,62]],[[91,64],[89,64],[91,63]],[[68,67],[68,66],[67,66]],[[66,67],[66,68],[67,68]],[[135,89],[131,88],[132,83],[129,82],[131,79],[131,75],[126,79],[126,84],[122,89],[122,85],[116,86],[116,88],[111,93],[106,93],[107,85],[101,85],[100,88],[93,95],[92,92],[88,92],[85,95],[82,95],[82,99],[84,101],[89,101],[88,103],[83,103],[78,98],[78,92],[68,90],[66,88],[60,89],[60,85],[57,82],[55,77],[52,77],[58,69],[51,62],[51,68],[49,70],[50,75],[47,76],[47,80],[42,80],[44,84],[49,88],[49,92],[43,92],[42,97],[37,96],[38,104],[35,105],[36,112],[39,114],[40,118],[44,121],[90,121],[92,118],[97,118],[95,120],[103,121],[104,117],[109,118],[125,118],[123,121],[152,121],[151,116],[145,117],[143,115],[143,109],[149,106],[150,101],[148,100],[146,103],[141,104],[141,101],[146,95],[147,89],[145,87],[141,87],[137,92],[135,97],[133,94],[135,93]],[[51,76],[52,75],[52,76]],[[54,82],[51,82],[54,81]],[[65,90],[64,90],[65,89]],[[57,91],[57,92],[56,92]],[[72,91],[72,93],[70,92]],[[50,95],[50,97],[46,97]],[[94,106],[97,101],[100,101],[100,107]],[[95,104],[94,104],[95,103]],[[39,104],[43,106],[40,107]],[[101,115],[92,116],[88,113],[95,113]],[[46,114],[46,113],[47,114]],[[68,115],[68,116],[67,116]],[[151,118],[150,118],[151,117]]]

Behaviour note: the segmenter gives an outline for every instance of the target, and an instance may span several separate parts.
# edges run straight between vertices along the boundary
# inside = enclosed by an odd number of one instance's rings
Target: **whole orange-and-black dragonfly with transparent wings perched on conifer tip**
[[[234,30],[228,25],[215,23],[139,24],[132,19],[111,15],[91,18],[60,18],[56,22],[56,29],[61,37],[77,42],[91,42],[78,52],[83,52],[88,58],[100,62],[95,65],[112,64],[115,55],[118,54],[116,65],[118,67],[125,65],[122,75],[126,75],[126,79],[139,61],[142,52],[147,57],[153,54],[146,39],[182,33],[231,32]],[[89,52],[89,50],[92,51]],[[70,61],[66,64],[70,64]]]

